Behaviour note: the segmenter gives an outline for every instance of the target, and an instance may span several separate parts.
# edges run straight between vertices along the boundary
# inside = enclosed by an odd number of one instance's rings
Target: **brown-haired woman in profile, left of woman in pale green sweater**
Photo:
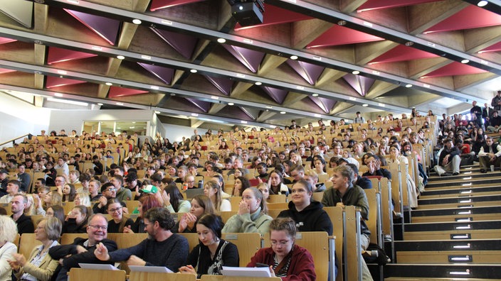
[[[216,214],[216,209],[214,209],[214,205],[209,197],[199,194],[193,197],[189,213],[181,216],[181,219],[177,221],[172,232],[196,233],[196,222],[204,214]]]

